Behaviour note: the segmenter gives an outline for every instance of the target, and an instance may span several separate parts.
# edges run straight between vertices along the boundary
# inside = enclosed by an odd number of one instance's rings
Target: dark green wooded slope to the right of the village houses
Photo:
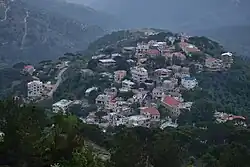
[[[200,113],[204,110],[212,112],[217,109],[249,118],[249,62],[248,59],[235,57],[233,66],[226,72],[195,74],[202,89],[184,94],[186,100],[194,101],[197,105],[200,103],[195,108],[193,107],[193,112]]]

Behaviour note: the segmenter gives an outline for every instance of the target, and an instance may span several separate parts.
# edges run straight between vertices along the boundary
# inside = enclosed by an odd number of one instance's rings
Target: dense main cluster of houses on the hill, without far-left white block
[[[92,59],[97,60],[98,66],[109,69],[108,72],[104,71],[103,75],[108,75],[113,84],[99,92],[95,99],[97,110],[81,119],[102,127],[177,127],[176,121],[172,120],[177,120],[181,112],[190,111],[193,104],[183,99],[182,91],[192,91],[198,87],[197,79],[190,73],[190,65],[195,65],[198,72],[220,71],[230,68],[233,55],[223,53],[216,58],[206,55],[204,62],[193,61],[192,56],[201,53],[201,50],[189,43],[187,36],[180,37],[178,49],[174,44],[175,40],[176,37],[171,36],[168,37],[170,42],[151,40],[124,47],[122,53],[93,56]],[[116,65],[115,57],[124,58],[125,55],[130,70],[110,72],[110,69],[115,69],[112,68]],[[165,61],[171,63],[161,68],[148,69],[147,60],[157,56],[162,56]],[[88,88],[86,96],[92,91],[98,92],[98,88]],[[131,96],[124,98],[121,94]],[[72,104],[73,101],[61,100],[53,104],[53,111],[65,113]],[[98,116],[99,112],[104,114]]]

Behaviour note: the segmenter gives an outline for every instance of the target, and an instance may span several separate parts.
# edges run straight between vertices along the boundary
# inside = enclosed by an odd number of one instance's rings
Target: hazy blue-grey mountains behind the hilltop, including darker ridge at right
[[[128,28],[154,27],[205,35],[250,54],[249,0],[67,0],[119,17]]]

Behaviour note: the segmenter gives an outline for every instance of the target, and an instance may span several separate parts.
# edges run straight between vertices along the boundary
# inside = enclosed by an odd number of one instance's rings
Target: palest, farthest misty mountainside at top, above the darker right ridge
[[[71,0],[72,1],[72,0]],[[73,0],[109,12],[129,27],[172,31],[250,23],[249,0]]]

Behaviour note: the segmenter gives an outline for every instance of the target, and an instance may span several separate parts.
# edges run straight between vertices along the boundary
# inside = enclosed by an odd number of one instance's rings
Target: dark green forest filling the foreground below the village
[[[230,124],[177,129],[116,127],[105,133],[73,115],[0,103],[0,164],[3,166],[248,167],[250,131]],[[108,156],[88,143],[99,145]]]

